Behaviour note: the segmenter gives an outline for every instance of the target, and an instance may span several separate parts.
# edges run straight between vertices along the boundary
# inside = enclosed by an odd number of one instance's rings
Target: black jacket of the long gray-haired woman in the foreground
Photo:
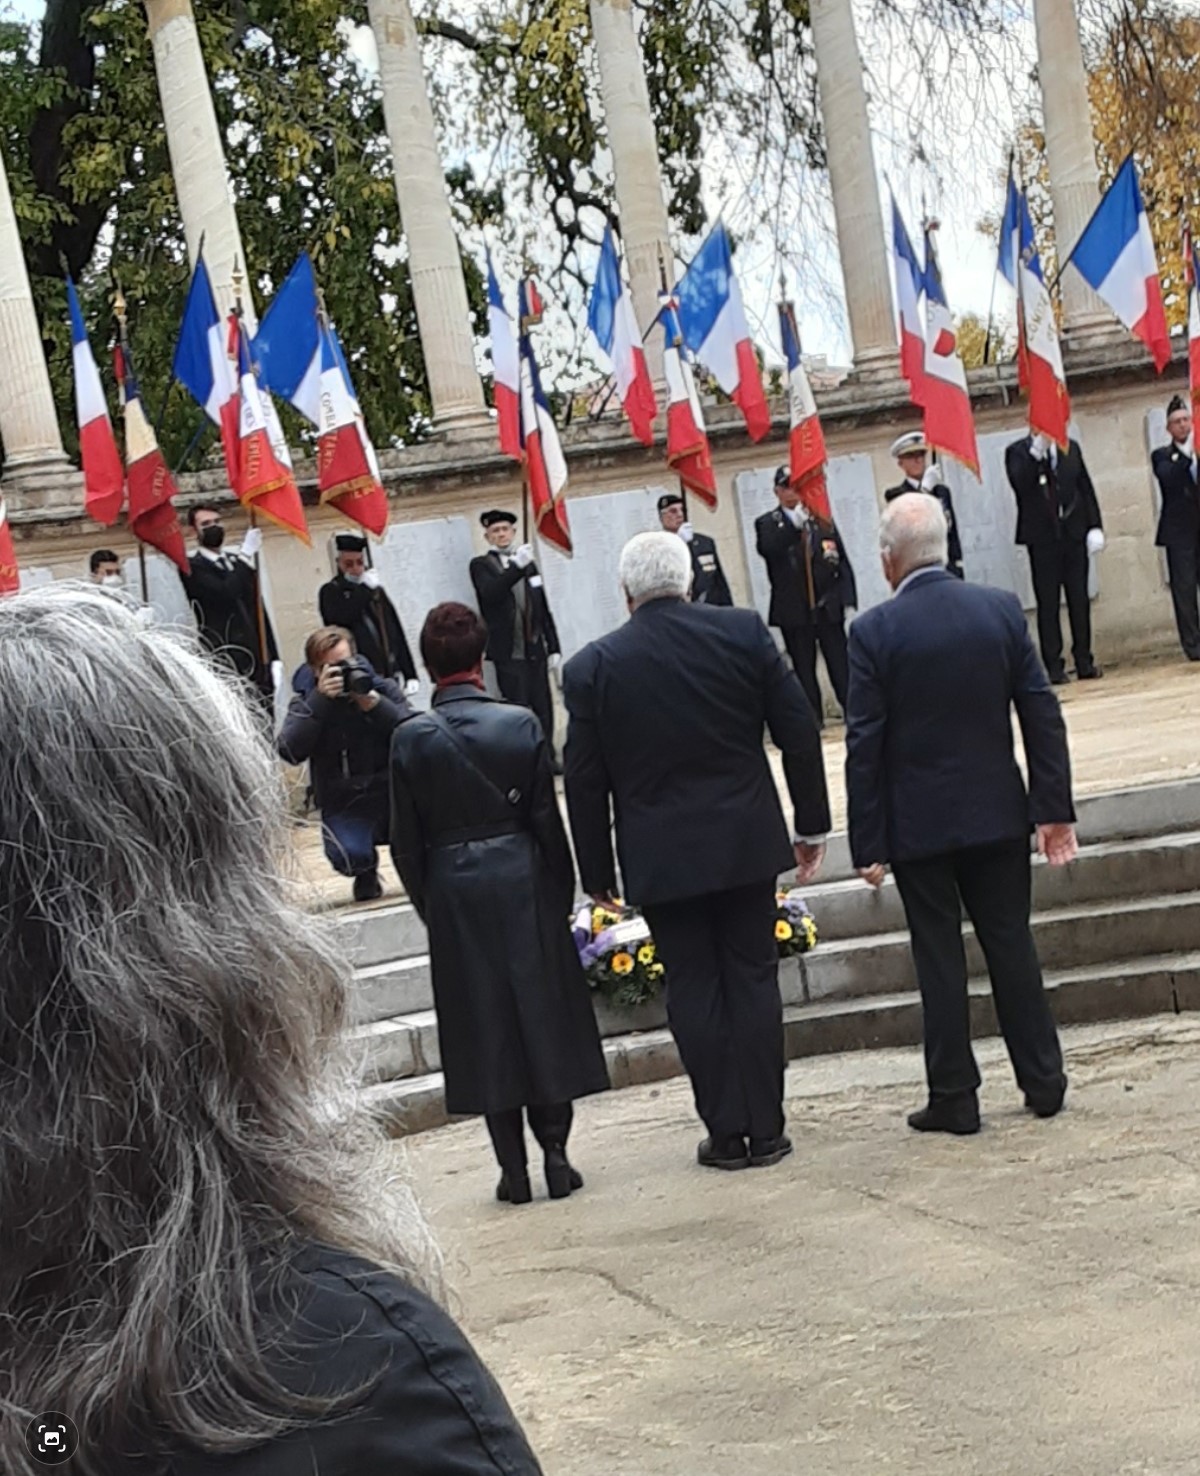
[[[270,1311],[282,1318],[282,1340],[269,1367],[286,1389],[325,1398],[366,1392],[339,1417],[249,1451],[208,1455],[177,1444],[164,1460],[171,1476],[540,1476],[517,1417],[461,1328],[399,1277],[311,1244],[295,1256]]]

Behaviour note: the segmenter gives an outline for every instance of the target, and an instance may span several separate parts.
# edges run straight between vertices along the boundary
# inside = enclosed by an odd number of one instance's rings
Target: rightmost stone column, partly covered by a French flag
[[[1033,0],[1033,22],[1038,31],[1038,83],[1046,134],[1049,195],[1054,202],[1054,238],[1058,260],[1063,261],[1100,204],[1088,75],[1083,71],[1075,0]],[[1077,272],[1069,267],[1060,286],[1063,329],[1069,341],[1113,331],[1114,319]]]

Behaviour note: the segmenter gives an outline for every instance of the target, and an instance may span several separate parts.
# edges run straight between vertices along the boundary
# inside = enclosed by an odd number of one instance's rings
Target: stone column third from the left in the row
[[[466,282],[416,22],[409,0],[368,0],[368,16],[379,50],[384,121],[391,142],[400,223],[409,246],[434,425],[450,431],[483,428],[490,416],[475,368]]]

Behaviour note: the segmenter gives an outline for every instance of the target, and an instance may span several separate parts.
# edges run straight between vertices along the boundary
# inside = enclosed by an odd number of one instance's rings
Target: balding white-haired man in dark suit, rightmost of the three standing
[[[930,1095],[909,1126],[979,1131],[964,906],[1026,1106],[1052,1117],[1067,1079],[1029,925],[1029,835],[1051,865],[1076,853],[1063,714],[1017,598],[946,573],[934,502],[897,497],[880,540],[896,598],[850,630],[846,784],[855,865],[872,886],[892,865],[912,936]]]

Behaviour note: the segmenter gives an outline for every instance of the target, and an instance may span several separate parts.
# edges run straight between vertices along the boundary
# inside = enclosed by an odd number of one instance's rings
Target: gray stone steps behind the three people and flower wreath
[[[1145,785],[1079,801],[1079,859],[1035,861],[1035,936],[1063,1024],[1200,1008],[1200,781]],[[837,835],[822,881],[806,892],[821,942],[781,965],[790,1057],[915,1045],[921,1004],[889,878],[871,892]],[[341,911],[356,964],[354,1039],[368,1098],[396,1134],[446,1122],[425,933],[406,903]],[[976,1035],[993,1035],[983,958],[967,927]],[[679,1073],[661,1004],[596,1002],[614,1086]]]

